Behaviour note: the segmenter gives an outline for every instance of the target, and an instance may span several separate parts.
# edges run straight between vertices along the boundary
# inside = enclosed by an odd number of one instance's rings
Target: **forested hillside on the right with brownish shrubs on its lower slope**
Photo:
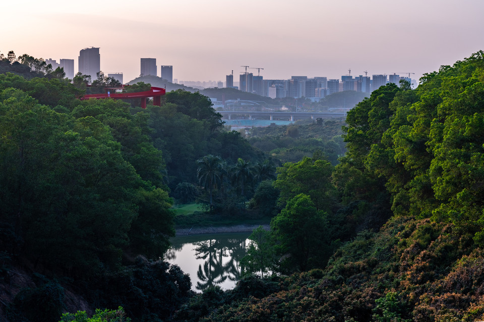
[[[425,74],[415,90],[381,87],[346,122],[347,152],[331,175],[337,194],[305,191],[287,179],[313,178],[314,166],[287,165],[275,184],[286,188],[284,209],[270,232],[251,235],[249,270],[293,273],[207,290],[179,320],[484,319],[484,52]],[[338,216],[352,237],[334,248]],[[373,229],[348,224],[356,219]]]

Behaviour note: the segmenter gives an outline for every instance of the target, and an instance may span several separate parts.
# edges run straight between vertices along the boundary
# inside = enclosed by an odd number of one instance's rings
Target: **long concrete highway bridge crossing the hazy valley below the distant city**
[[[222,117],[228,120],[231,119],[263,119],[263,120],[288,120],[288,121],[296,121],[301,119],[332,119],[332,118],[339,118],[339,117],[346,117],[346,113],[344,112],[285,112],[285,111],[277,111],[277,112],[243,112],[243,111],[217,111],[218,113],[222,114]]]

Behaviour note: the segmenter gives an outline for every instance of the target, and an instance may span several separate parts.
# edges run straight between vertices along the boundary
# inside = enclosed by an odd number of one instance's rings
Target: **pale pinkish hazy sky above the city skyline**
[[[0,52],[75,60],[100,47],[101,70],[140,74],[140,58],[179,81],[225,81],[241,65],[291,75],[422,73],[484,49],[482,0],[19,0],[0,7]],[[250,71],[257,74],[256,69]]]

